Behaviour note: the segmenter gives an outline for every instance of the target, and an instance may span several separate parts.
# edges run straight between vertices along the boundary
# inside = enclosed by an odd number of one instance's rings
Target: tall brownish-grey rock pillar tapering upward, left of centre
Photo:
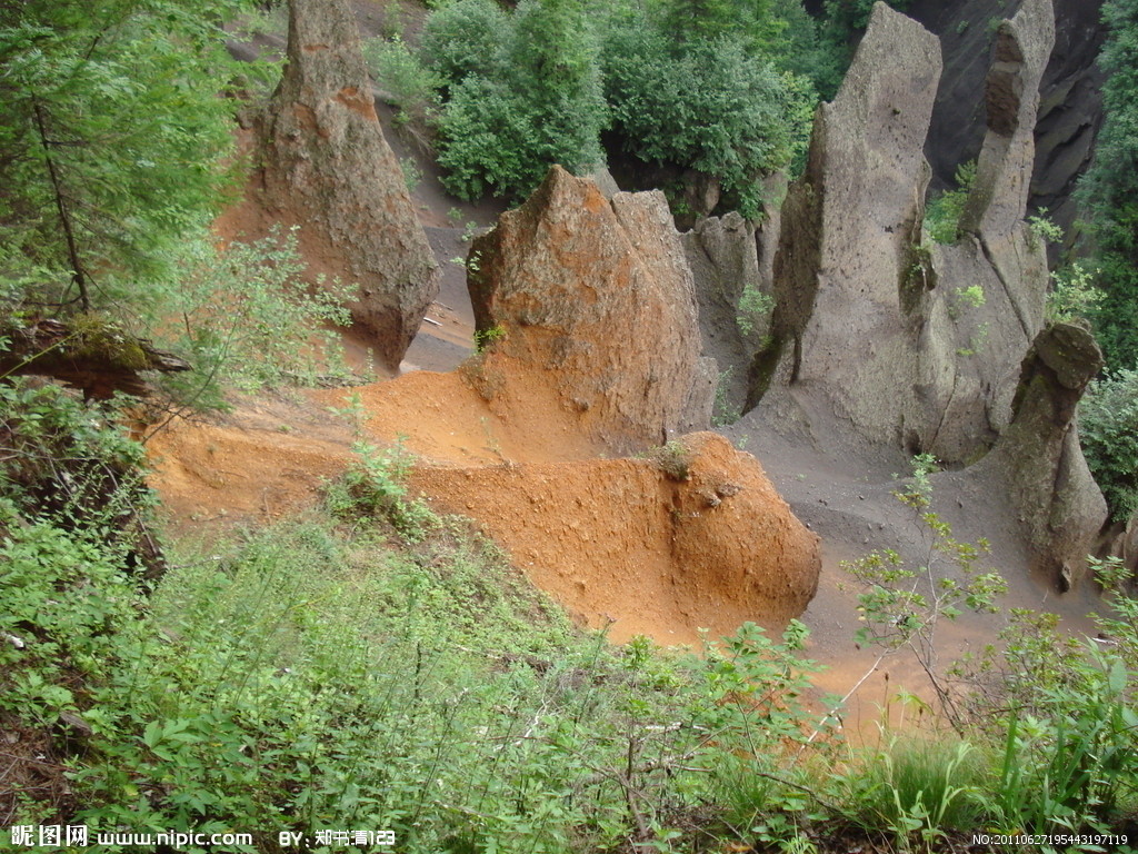
[[[438,268],[399,164],[384,139],[345,0],[289,1],[288,64],[262,132],[262,204],[321,245],[322,270],[358,284],[351,305],[379,358],[397,369]]]

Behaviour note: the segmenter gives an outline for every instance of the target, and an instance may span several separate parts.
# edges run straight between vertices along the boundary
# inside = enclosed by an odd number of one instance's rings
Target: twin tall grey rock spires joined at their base
[[[1041,241],[1022,220],[1048,9],[1026,0],[1000,26],[968,232],[939,246],[923,245],[921,228],[937,41],[875,7],[783,210],[774,340],[752,364],[752,402],[769,389],[765,405],[785,417],[787,396],[810,396],[800,409],[848,424],[856,442],[957,465],[1007,426],[1048,282]]]

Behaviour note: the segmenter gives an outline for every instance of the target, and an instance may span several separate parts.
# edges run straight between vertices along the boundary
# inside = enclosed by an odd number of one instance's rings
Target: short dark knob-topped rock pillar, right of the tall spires
[[[1062,589],[1078,576],[1107,516],[1074,421],[1102,367],[1103,354],[1082,327],[1057,323],[1040,332],[1023,361],[1014,418],[972,470],[1003,485],[1038,568]]]

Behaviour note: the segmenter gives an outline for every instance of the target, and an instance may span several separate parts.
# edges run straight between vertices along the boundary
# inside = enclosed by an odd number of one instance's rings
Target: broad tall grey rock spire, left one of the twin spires
[[[921,235],[939,75],[937,38],[877,3],[783,206],[773,340],[752,364],[750,403],[793,387],[853,432],[901,444],[921,327],[902,285]]]

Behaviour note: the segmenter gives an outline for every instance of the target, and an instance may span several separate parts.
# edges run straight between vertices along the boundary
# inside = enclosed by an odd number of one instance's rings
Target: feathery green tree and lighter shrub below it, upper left
[[[239,174],[234,66],[221,22],[240,0],[0,6],[0,319],[101,318],[197,370],[175,400],[221,404],[324,370],[344,294],[299,285],[292,236],[220,248],[209,222]],[[297,342],[308,339],[312,346]]]

